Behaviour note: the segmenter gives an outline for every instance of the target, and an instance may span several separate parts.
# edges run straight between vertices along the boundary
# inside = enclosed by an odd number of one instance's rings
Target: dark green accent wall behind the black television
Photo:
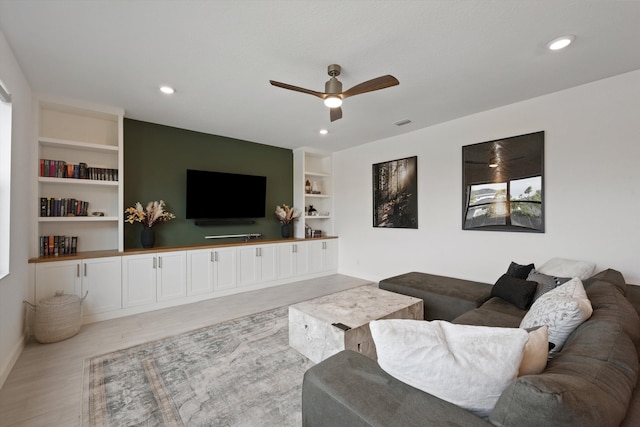
[[[256,218],[250,225],[223,226],[197,226],[194,220],[185,219],[187,169],[266,176],[265,218]],[[211,189],[210,197],[215,196],[215,189]],[[261,233],[264,238],[278,238],[276,205],[293,203],[293,153],[285,148],[125,119],[125,208],[135,202],[146,206],[161,199],[176,218],[153,227],[156,247],[206,244],[212,241],[204,236],[216,234]],[[233,202],[221,200],[221,209]],[[126,223],[124,228],[125,249],[142,247],[142,225]]]

